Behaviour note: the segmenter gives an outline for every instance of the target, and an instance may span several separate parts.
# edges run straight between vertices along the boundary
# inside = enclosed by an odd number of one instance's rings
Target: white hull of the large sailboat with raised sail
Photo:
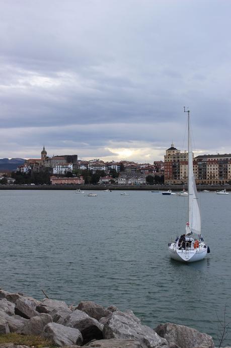
[[[207,255],[207,246],[197,249],[179,250],[174,247],[174,243],[169,246],[171,259],[180,262],[196,262],[203,260]]]

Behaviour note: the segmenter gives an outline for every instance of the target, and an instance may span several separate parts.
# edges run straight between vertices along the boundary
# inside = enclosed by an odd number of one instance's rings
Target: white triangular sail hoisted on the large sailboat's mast
[[[201,216],[198,204],[196,183],[193,174],[193,153],[191,145],[191,135],[188,135],[188,205],[189,216],[188,222],[192,233],[201,234]]]

